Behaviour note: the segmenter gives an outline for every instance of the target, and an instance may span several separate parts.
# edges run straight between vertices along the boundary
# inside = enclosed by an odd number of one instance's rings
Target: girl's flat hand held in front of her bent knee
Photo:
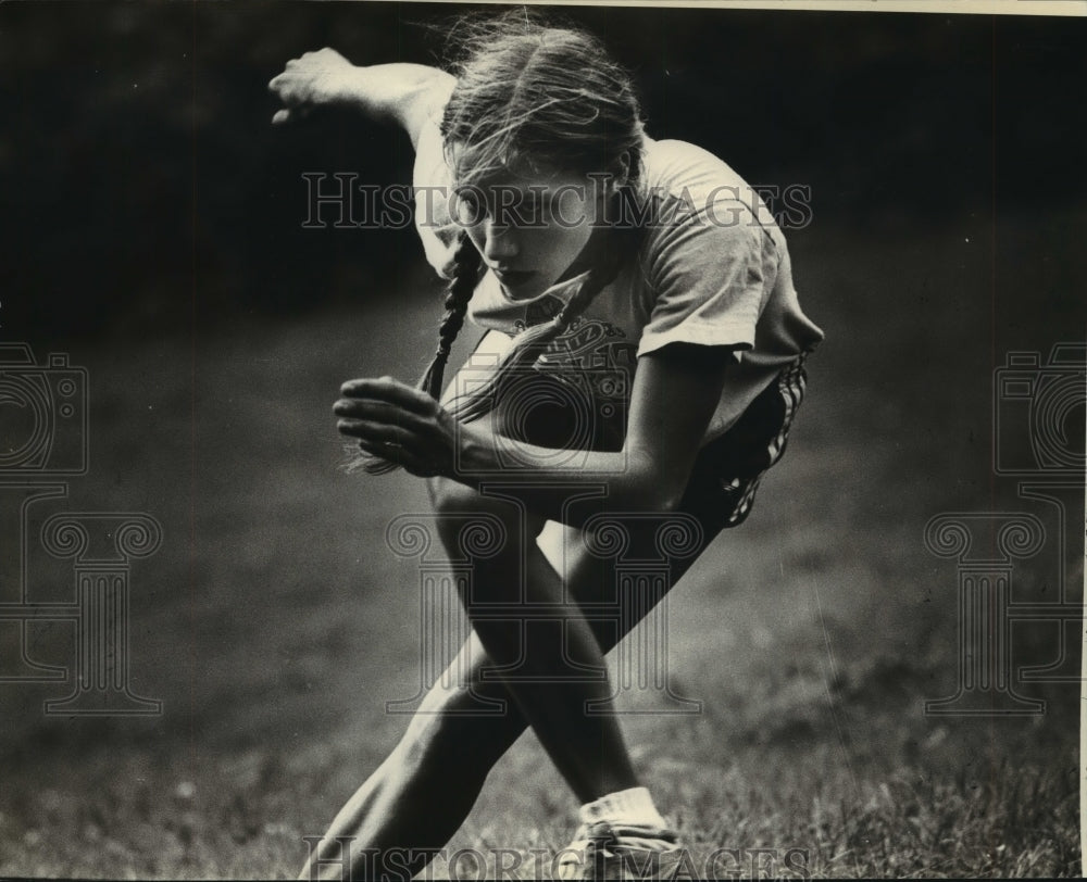
[[[465,428],[425,392],[391,377],[348,380],[336,428],[367,453],[421,478],[454,477]]]

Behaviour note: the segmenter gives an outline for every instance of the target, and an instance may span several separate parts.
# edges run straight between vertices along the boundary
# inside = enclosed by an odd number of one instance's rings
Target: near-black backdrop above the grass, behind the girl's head
[[[273,129],[267,80],[330,45],[429,61],[425,4],[7,3],[0,12],[3,324],[24,337],[170,333],[380,295],[415,242],[314,231],[303,172],[408,182],[410,146],[349,112]],[[1027,216],[1037,245],[1084,202],[1083,20],[565,9],[634,71],[650,133],[753,184],[811,187],[820,224],[888,239]],[[976,239],[974,240],[976,241]],[[1032,243],[1034,244],[1034,243]],[[1050,281],[1050,279],[1047,279]],[[1066,304],[1080,295],[1053,277]],[[873,292],[875,293],[875,292]],[[999,322],[1037,295],[995,291]],[[999,328],[998,328],[999,330]]]

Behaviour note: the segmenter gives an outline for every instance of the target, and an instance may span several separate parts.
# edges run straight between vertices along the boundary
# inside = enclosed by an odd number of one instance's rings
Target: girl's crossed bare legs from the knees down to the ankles
[[[485,512],[499,516],[512,537],[495,557],[476,562],[473,602],[509,602],[521,584],[524,566],[526,600],[547,603],[549,615],[562,617],[567,630],[565,648],[554,623],[526,628],[515,621],[476,620],[474,632],[436,684],[409,724],[400,743],[336,816],[322,842],[313,849],[301,878],[339,879],[348,872],[355,879],[373,872],[374,854],[400,850],[398,860],[418,872],[427,864],[425,849],[436,850],[453,835],[487,778],[488,772],[521,735],[528,719],[582,802],[605,793],[637,786],[629,756],[613,715],[587,717],[585,702],[607,700],[607,680],[596,682],[547,682],[548,675],[569,672],[569,659],[603,669],[603,653],[623,637],[622,622],[586,620],[576,603],[563,604],[562,580],[536,546],[541,524],[530,522],[517,539],[523,513],[502,500],[479,496],[452,482],[440,482],[435,502],[439,513]],[[637,530],[637,525],[632,525]],[[455,537],[442,537],[447,543]],[[651,541],[651,538],[647,538]],[[688,558],[692,560],[694,557]],[[486,565],[486,566],[482,566]],[[672,583],[687,563],[674,565]],[[567,555],[567,582],[579,601],[599,598],[614,582],[607,562],[586,554]],[[467,605],[472,615],[472,604]],[[522,641],[527,652],[522,653]],[[503,683],[483,671],[496,665],[520,663],[517,679]],[[524,682],[528,675],[544,682]],[[474,694],[473,694],[474,693]],[[504,700],[507,711],[493,716],[458,716],[455,711],[478,707],[475,696]],[[337,837],[350,839],[348,868]],[[408,849],[415,849],[414,859]]]

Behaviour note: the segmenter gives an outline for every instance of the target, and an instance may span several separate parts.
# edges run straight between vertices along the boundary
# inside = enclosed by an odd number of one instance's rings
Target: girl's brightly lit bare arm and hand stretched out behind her
[[[424,64],[357,66],[335,49],[307,52],[287,62],[268,83],[284,106],[272,122],[304,118],[316,106],[357,106],[377,121],[401,126],[412,147],[430,115],[449,99],[455,77]]]

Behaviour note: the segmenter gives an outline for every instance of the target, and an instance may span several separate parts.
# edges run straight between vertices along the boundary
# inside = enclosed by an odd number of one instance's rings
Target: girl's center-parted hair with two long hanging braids
[[[453,32],[462,47],[453,65],[457,86],[446,104],[440,131],[453,179],[475,186],[513,165],[551,168],[588,177],[625,169],[613,198],[634,198],[640,180],[641,109],[630,76],[589,34],[550,27],[540,16],[517,10],[485,20],[462,20]],[[453,151],[453,148],[461,148]],[[621,213],[620,216],[628,216]],[[511,371],[535,364],[619,274],[640,230],[616,225],[607,230],[623,241],[601,250],[580,287],[551,322],[522,331],[491,377],[454,399],[450,414],[462,423],[493,410]],[[438,329],[438,348],[418,388],[437,399],[445,366],[483,269],[483,260],[464,230],[453,254],[453,276]],[[396,465],[363,453],[371,474]]]

